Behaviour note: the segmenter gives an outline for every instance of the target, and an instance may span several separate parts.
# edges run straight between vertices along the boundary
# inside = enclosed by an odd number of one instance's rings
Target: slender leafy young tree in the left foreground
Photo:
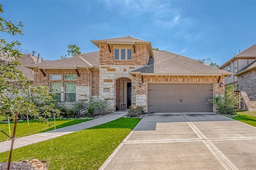
[[[0,14],[2,12],[4,11],[2,5],[0,5]],[[23,35],[22,26],[20,21],[18,21],[17,25],[14,25],[12,21],[6,21],[4,18],[0,17],[0,33],[2,37],[3,33]],[[48,87],[32,86],[28,83],[29,79],[16,68],[16,66],[21,65],[16,59],[21,57],[22,54],[15,49],[15,46],[20,45],[20,43],[18,41],[6,42],[4,39],[0,39],[0,43],[0,52],[7,59],[11,59],[8,63],[0,63],[0,114],[4,115],[6,118],[14,119],[14,129],[12,137],[10,137],[12,144],[8,162],[9,170],[18,115],[27,114],[48,122],[44,117],[51,116],[52,114],[58,116],[59,111],[54,108],[54,104],[45,104],[41,107],[36,107],[30,98],[26,97],[30,92],[31,96],[33,96],[37,102],[44,104],[48,101],[52,101]],[[21,87],[21,89],[18,89],[17,85]],[[12,98],[8,98],[8,93],[12,94]]]

